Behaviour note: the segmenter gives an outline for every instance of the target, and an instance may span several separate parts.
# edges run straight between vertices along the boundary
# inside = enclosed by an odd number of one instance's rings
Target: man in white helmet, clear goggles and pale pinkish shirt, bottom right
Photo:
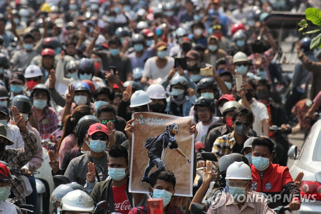
[[[205,174],[212,176],[211,171],[206,171]],[[252,172],[244,162],[231,164],[227,168],[225,180],[229,192],[217,198],[207,213],[275,213],[267,206],[267,199],[263,195],[248,191],[252,184]]]

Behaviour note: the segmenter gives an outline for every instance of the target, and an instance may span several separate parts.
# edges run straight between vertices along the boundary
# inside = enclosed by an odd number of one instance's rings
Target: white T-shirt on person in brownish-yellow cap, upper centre
[[[174,58],[167,57],[167,64],[163,68],[159,68],[156,65],[156,57],[151,57],[147,59],[143,71],[143,76],[146,76],[149,79],[158,79],[164,78],[166,75],[169,74],[170,69],[172,69],[174,65]]]

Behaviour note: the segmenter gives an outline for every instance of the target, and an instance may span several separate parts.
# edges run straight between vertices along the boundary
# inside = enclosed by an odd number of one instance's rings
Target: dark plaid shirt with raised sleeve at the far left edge
[[[28,128],[27,131],[21,133],[21,135],[24,141],[24,148],[4,150],[2,156],[0,156],[0,160],[7,162],[13,170],[13,174],[18,178],[11,182],[11,191],[20,203],[25,204],[26,201],[20,169],[36,155],[38,146],[35,134],[29,131]]]

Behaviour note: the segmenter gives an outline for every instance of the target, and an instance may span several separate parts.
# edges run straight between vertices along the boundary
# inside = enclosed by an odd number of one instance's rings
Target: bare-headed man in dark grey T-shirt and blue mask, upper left
[[[120,52],[122,47],[120,40],[117,37],[112,37],[108,41],[109,53],[107,54],[109,66],[117,68],[120,81],[126,82],[132,80],[133,68],[130,59],[126,54]]]

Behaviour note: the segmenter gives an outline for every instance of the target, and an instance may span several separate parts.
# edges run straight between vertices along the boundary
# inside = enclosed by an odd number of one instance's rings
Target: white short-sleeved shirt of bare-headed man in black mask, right
[[[254,114],[253,130],[256,131],[257,136],[261,136],[263,127],[261,121],[264,119],[269,120],[269,114],[263,103],[258,102],[255,98],[252,99],[253,103],[250,104],[250,107]],[[242,99],[239,100],[239,103],[242,104]]]

